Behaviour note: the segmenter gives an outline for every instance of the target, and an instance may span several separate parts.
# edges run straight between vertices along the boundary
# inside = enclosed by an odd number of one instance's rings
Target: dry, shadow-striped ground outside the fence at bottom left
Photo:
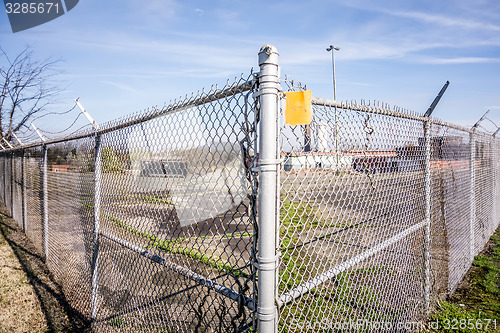
[[[89,332],[16,221],[0,206],[0,332]]]

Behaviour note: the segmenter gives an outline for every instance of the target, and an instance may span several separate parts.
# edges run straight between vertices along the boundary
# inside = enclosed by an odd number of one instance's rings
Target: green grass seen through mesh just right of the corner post
[[[309,229],[330,225],[310,204],[288,200],[284,200],[281,205],[280,221],[282,257],[279,290],[284,293],[318,275],[321,270],[321,265],[318,266],[313,255],[302,246],[299,235]],[[379,303],[378,291],[358,284],[384,270],[386,268],[382,266],[352,269],[312,289],[280,309],[280,332],[323,332],[325,322],[348,322],[349,318],[389,321],[390,318],[384,316],[390,316],[390,311],[381,315],[379,311],[383,306],[374,306]],[[358,292],[353,293],[353,290]],[[335,312],[333,317],[332,311]]]

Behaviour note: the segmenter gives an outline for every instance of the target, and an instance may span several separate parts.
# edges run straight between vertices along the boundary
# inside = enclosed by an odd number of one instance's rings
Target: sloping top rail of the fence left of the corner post
[[[197,95],[191,95],[191,97],[187,97],[184,100],[174,101],[169,105],[165,105],[163,108],[152,108],[147,109],[142,113],[138,113],[136,115],[128,116],[128,119],[118,119],[110,121],[103,126],[99,130],[87,130],[83,133],[75,134],[67,137],[54,138],[50,140],[46,140],[44,142],[33,142],[29,144],[25,144],[23,146],[17,146],[14,148],[4,149],[1,152],[13,152],[22,149],[35,148],[40,146],[46,146],[49,144],[60,143],[64,141],[71,141],[77,139],[83,139],[87,137],[92,137],[96,135],[105,134],[108,132],[113,132],[125,127],[130,127],[136,124],[140,124],[154,118],[158,118],[167,114],[180,112],[182,110],[186,110],[192,107],[196,107],[199,105],[203,105],[206,103],[214,102],[226,97],[230,97],[236,95],[238,93],[243,93],[252,89],[254,84],[254,75],[250,75],[248,79],[239,79],[235,81],[233,84],[227,84],[222,89],[215,88],[215,91],[212,92],[212,89],[208,93],[198,92]]]

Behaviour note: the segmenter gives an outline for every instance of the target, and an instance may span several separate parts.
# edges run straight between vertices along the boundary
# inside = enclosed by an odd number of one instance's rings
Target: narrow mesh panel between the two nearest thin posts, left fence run
[[[93,172],[86,168],[93,146],[92,137],[48,145],[45,192],[46,262],[72,307],[86,318],[90,318],[94,220],[84,205],[94,190]]]

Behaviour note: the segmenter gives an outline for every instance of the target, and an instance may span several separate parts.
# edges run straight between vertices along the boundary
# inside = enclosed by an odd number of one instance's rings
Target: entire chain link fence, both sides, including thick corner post
[[[418,330],[497,228],[500,140],[320,98],[287,125],[277,57],[0,152],[3,202],[95,331]]]

